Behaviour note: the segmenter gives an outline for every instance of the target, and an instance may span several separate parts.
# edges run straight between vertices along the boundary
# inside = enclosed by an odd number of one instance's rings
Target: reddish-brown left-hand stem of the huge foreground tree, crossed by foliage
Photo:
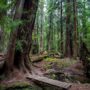
[[[16,3],[17,4],[16,4],[16,12],[14,15],[14,20],[20,20],[22,11],[23,11],[24,0],[19,0],[19,1],[17,0]],[[7,52],[8,60],[6,60],[5,62],[7,74],[9,74],[9,72],[12,71],[14,66],[14,54],[15,54],[17,31],[18,31],[18,26],[16,27],[15,30],[12,30],[11,36],[10,36],[8,52]]]

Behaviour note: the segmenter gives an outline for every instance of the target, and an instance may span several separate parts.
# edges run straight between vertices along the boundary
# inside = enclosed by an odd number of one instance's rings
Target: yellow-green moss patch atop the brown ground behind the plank
[[[70,59],[56,59],[56,58],[46,58],[46,64],[44,65],[45,69],[51,69],[54,66],[63,69],[69,67],[76,63],[76,60]]]

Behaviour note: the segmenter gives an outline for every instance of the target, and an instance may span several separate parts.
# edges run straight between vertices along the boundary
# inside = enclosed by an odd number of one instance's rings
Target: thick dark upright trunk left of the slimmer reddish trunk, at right
[[[72,47],[72,22],[71,22],[71,1],[67,0],[66,7],[66,44],[65,44],[65,56],[72,57],[73,47]]]

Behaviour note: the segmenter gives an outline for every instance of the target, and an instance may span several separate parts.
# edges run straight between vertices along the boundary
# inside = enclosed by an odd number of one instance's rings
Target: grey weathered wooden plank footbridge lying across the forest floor
[[[49,79],[47,77],[40,77],[37,75],[29,75],[26,78],[32,80],[33,82],[40,83],[41,85],[54,86],[59,90],[63,90],[63,89],[68,90],[72,86],[71,83],[61,82],[61,81]]]

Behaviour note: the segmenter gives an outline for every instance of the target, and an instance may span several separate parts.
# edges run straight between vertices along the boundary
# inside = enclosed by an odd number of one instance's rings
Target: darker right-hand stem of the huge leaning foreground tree
[[[18,30],[17,42],[19,41],[22,47],[19,51],[16,49],[15,57],[18,59],[15,59],[15,65],[24,71],[27,71],[27,69],[29,71],[31,70],[29,53],[32,45],[32,32],[34,29],[37,8],[38,0],[25,1],[24,12],[21,18],[21,20],[24,21],[24,24],[20,26]]]

